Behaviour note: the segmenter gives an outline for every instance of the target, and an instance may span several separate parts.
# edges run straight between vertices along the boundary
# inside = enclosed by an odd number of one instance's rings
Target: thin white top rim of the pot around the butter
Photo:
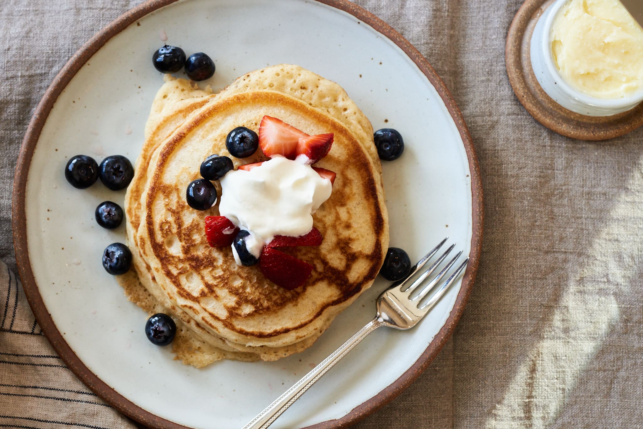
[[[543,23],[543,40],[539,44],[542,53],[543,60],[545,61],[545,67],[549,71],[550,75],[557,77],[557,86],[561,88],[568,96],[574,98],[578,102],[581,102],[585,105],[598,107],[605,110],[619,110],[626,107],[634,107],[638,103],[643,101],[643,89],[632,93],[629,96],[624,96],[621,98],[598,98],[592,95],[583,93],[581,90],[576,89],[571,84],[569,84],[563,75],[558,71],[554,65],[554,55],[551,49],[551,38],[552,38],[552,26],[554,25],[554,19],[561,12],[561,8],[571,0],[556,0],[552,5],[550,5],[545,14],[547,14],[547,19]],[[535,33],[534,33],[535,34]]]

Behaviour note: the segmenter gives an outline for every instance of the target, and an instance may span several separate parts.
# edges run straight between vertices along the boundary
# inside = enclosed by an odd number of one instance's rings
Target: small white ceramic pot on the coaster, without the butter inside
[[[605,100],[581,93],[558,73],[552,57],[552,23],[568,0],[557,0],[541,15],[530,42],[531,66],[545,93],[572,112],[588,116],[611,116],[633,109],[643,101],[643,91],[631,96]]]

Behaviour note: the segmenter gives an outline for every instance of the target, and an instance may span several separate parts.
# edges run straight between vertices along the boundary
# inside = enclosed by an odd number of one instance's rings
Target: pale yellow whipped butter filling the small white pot
[[[578,91],[615,99],[643,89],[643,29],[618,0],[568,0],[551,41],[554,65]]]

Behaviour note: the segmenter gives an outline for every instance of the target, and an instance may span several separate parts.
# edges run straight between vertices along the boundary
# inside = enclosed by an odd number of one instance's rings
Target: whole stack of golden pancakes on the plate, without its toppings
[[[334,134],[331,152],[316,164],[337,173],[331,197],[313,215],[323,242],[287,250],[314,266],[292,291],[271,283],[257,266],[237,266],[231,248],[208,246],[204,217],[219,215],[218,206],[202,212],[185,199],[207,156],[230,156],[228,132],[257,131],[266,114],[308,134]],[[267,159],[260,150],[230,158],[235,168]],[[338,84],[298,66],[253,71],[217,95],[166,78],[135,170],[125,197],[135,269],[118,279],[130,300],[177,321],[174,352],[195,367],[221,359],[277,360],[310,347],[370,287],[388,248],[372,126]]]

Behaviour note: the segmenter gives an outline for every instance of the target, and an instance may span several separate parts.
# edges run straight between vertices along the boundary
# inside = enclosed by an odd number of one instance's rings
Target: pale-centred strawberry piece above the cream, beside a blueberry
[[[266,156],[272,158],[275,155],[282,155],[289,160],[297,156],[297,143],[300,137],[308,137],[300,131],[288,125],[284,121],[264,116],[259,124],[259,147]]]

